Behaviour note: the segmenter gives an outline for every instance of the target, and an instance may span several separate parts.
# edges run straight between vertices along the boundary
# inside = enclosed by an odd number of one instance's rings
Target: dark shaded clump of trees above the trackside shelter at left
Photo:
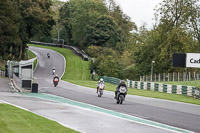
[[[51,6],[51,0],[0,1],[0,60],[24,59],[30,40],[49,40]]]

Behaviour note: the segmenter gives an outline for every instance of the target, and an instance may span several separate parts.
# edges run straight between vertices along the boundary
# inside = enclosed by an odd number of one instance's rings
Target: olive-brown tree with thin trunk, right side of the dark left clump
[[[16,0],[13,1],[18,13],[19,36],[22,45],[19,47],[20,59],[24,58],[26,44],[31,40],[50,40],[50,31],[55,24],[51,11],[51,0]]]

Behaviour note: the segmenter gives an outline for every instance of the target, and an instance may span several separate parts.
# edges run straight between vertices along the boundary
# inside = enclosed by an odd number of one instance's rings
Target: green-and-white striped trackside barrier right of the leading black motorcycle
[[[132,80],[127,80],[127,85],[128,87],[136,89],[147,89],[163,93],[173,93],[173,94],[181,94],[188,96],[193,96],[196,89],[193,86],[171,85],[171,84],[162,84],[154,82],[138,82]]]

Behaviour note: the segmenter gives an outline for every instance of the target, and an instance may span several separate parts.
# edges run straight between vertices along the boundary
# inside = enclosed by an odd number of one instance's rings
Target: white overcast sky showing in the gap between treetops
[[[61,0],[68,1],[68,0]],[[151,28],[154,21],[154,8],[162,0],[114,0],[122,11],[128,15],[138,27],[147,24]]]

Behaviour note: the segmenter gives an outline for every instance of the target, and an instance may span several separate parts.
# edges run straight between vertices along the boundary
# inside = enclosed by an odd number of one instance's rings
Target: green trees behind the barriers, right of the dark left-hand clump
[[[113,0],[70,0],[60,8],[58,22],[67,44],[95,58],[91,69],[99,75],[138,79],[150,74],[152,61],[155,73],[184,71],[172,67],[172,54],[200,51],[199,3],[162,1],[148,29],[137,27]]]

